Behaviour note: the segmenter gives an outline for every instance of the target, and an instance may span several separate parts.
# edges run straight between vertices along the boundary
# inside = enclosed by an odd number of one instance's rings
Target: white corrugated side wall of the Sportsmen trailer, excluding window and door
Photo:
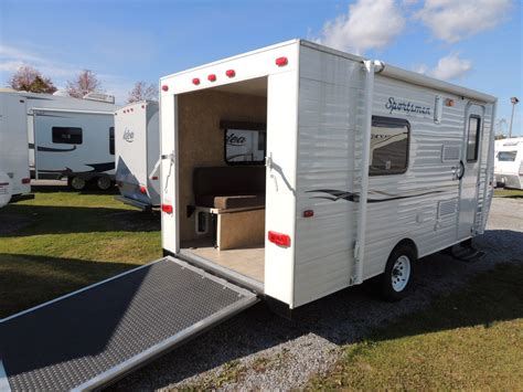
[[[297,180],[295,306],[351,284],[357,202],[314,199],[311,190],[360,192],[364,71],[360,62],[335,53],[300,50],[300,102]],[[453,99],[442,105],[435,121],[436,96]],[[430,108],[430,114],[391,110],[391,97]],[[375,75],[374,116],[405,119],[410,125],[408,168],[405,173],[371,176],[363,278],[383,273],[394,246],[412,240],[419,256],[458,242],[460,181],[453,176],[461,157],[442,161],[442,148],[465,148],[468,99]],[[493,105],[485,107],[480,142],[480,187],[476,231],[482,232],[490,206],[489,146]],[[383,193],[384,192],[384,193]],[[399,197],[397,200],[386,200]],[[439,205],[453,206],[438,214]],[[484,206],[483,206],[484,205]],[[313,218],[302,218],[313,210]]]

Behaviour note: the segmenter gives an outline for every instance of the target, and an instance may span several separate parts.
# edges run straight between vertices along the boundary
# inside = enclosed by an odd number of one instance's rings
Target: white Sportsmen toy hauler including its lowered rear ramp
[[[1,320],[4,389],[98,388],[258,298],[398,299],[484,230],[489,95],[300,40],[160,82],[168,255]]]

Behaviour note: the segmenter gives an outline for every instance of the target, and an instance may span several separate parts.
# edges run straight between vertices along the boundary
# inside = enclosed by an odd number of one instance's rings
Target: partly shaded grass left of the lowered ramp
[[[0,318],[161,256],[158,215],[113,194],[35,195],[0,210]]]

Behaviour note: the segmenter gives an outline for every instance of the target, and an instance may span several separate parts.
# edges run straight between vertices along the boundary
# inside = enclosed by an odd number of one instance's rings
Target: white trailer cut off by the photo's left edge
[[[23,99],[18,94],[0,92],[0,172],[9,178],[0,180],[4,183],[0,193],[10,193],[13,200],[31,192],[25,121]]]

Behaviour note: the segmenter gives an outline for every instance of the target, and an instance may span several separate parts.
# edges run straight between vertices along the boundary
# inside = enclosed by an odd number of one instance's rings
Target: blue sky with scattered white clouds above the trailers
[[[125,103],[138,81],[302,38],[494,95],[506,134],[522,36],[520,0],[0,0],[0,86],[21,65],[60,88],[86,68]]]

